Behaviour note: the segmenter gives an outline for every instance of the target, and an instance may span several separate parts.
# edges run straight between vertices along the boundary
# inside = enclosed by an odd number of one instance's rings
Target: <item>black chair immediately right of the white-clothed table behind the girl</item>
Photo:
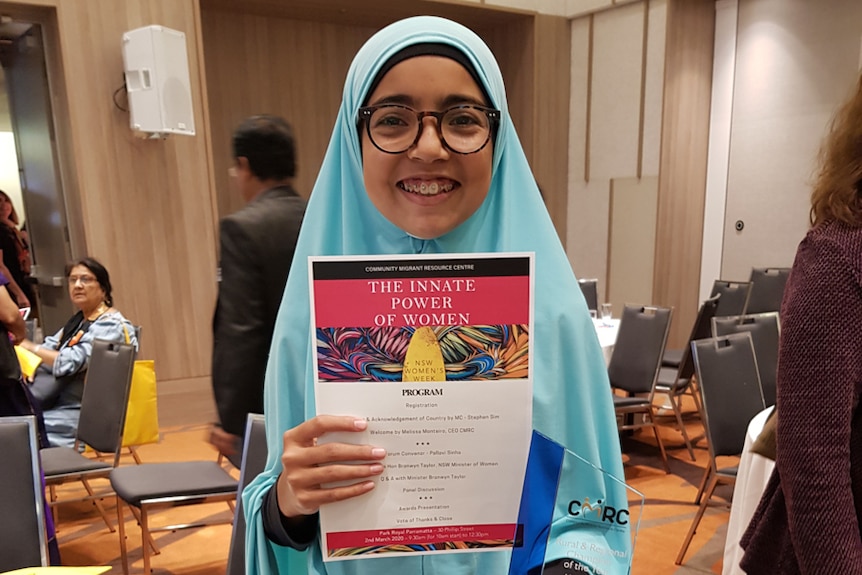
[[[664,443],[656,428],[653,397],[672,314],[671,308],[625,306],[608,364],[611,388],[626,394],[614,394],[614,410],[623,417],[619,428],[651,427],[661,452],[662,464],[668,473],[670,466]],[[642,419],[638,421],[638,418],[633,417],[635,415],[641,415]]]

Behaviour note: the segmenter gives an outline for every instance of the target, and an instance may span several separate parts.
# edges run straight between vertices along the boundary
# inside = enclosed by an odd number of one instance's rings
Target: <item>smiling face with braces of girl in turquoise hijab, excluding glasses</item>
[[[461,64],[442,56],[416,56],[395,65],[371,94],[369,106],[394,103],[441,112],[459,104],[488,106]],[[387,154],[362,138],[365,189],[383,216],[422,239],[442,236],[467,220],[491,186],[493,142],[473,154],[447,149],[437,120],[422,119],[419,140],[406,152]],[[436,185],[436,187],[435,187]],[[431,190],[434,190],[433,192]]]

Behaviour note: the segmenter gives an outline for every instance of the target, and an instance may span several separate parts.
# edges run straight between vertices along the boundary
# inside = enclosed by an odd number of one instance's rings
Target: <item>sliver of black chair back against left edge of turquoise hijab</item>
[[[266,466],[266,429],[263,415],[249,413],[245,424],[245,443],[239,473],[236,513],[230,537],[230,551],[225,575],[245,575],[245,513],[242,510],[242,490],[260,475]]]

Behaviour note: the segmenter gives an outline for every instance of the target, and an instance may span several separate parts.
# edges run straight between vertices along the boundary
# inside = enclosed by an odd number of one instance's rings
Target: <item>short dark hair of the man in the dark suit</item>
[[[278,116],[251,116],[233,133],[233,157],[248,159],[259,180],[283,180],[296,175],[293,128]]]

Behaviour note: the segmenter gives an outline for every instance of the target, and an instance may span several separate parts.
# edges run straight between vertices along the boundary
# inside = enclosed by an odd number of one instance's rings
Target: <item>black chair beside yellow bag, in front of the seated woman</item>
[[[75,446],[46,447],[40,452],[45,482],[51,495],[49,503],[54,512],[55,525],[59,518],[57,505],[72,501],[92,501],[108,529],[114,531],[114,526],[101,503],[101,499],[109,494],[97,494],[90,481],[107,478],[111,470],[119,465],[134,364],[133,345],[100,339],[93,341]],[[87,457],[79,449],[83,445],[99,453],[111,454],[113,459],[100,461]],[[57,486],[73,481],[80,481],[87,495],[58,499]]]

